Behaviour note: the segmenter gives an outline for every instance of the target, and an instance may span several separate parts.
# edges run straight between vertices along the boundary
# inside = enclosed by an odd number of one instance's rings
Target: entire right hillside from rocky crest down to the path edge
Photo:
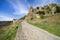
[[[60,4],[49,4],[36,8],[30,7],[25,19],[34,26],[60,36]]]

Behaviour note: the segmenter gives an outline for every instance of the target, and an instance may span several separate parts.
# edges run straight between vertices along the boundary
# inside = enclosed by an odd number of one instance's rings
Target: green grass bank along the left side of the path
[[[9,27],[5,27],[5,30],[3,28],[0,29],[0,40],[14,40],[19,24],[20,22],[17,22]]]

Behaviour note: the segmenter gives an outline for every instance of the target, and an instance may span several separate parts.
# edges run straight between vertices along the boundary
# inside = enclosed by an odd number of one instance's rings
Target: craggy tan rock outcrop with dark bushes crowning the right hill
[[[43,19],[49,16],[53,16],[55,14],[60,14],[60,5],[58,4],[52,3],[44,7],[36,7],[36,8],[30,6],[26,19],[27,20]]]

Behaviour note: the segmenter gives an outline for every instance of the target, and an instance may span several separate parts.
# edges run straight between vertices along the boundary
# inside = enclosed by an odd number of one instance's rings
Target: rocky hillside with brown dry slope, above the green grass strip
[[[44,7],[32,8],[30,6],[26,20],[34,22],[58,22],[60,20],[60,4],[49,4]]]

